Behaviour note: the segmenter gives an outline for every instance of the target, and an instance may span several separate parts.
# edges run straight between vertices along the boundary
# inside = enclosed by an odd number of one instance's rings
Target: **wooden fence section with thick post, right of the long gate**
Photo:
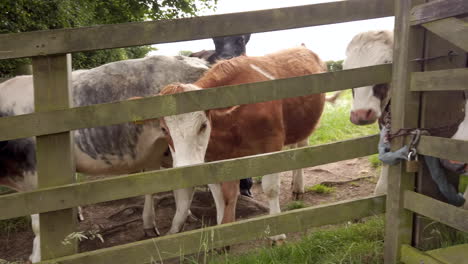
[[[453,17],[466,13],[468,2],[463,0],[395,1],[393,130],[453,124],[466,114],[460,90],[468,89],[468,24]],[[456,54],[456,58],[450,54]],[[411,63],[413,60],[419,63]],[[392,147],[403,144],[403,139],[398,139]],[[423,136],[418,153],[468,162],[467,147],[467,141]],[[442,198],[437,188],[431,187],[434,183],[424,168],[417,178],[406,172],[405,164],[392,166],[389,174],[386,222],[391,225],[386,226],[385,262],[466,263],[468,245],[428,252],[412,246],[424,247],[427,243],[423,234],[427,218],[468,232],[468,211],[423,195]]]

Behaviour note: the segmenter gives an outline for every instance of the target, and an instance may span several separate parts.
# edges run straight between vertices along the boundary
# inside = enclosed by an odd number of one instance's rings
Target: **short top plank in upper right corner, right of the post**
[[[443,19],[468,13],[466,0],[437,0],[411,9],[411,25]]]

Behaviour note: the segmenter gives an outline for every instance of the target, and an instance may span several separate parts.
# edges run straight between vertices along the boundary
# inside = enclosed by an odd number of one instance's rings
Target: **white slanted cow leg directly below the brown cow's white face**
[[[172,219],[172,226],[167,234],[175,234],[180,232],[189,215],[190,205],[192,204],[194,189],[193,187],[186,189],[174,190],[174,199],[176,202],[176,213]]]

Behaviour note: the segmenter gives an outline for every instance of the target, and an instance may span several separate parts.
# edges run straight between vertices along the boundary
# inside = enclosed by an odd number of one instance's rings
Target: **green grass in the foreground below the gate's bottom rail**
[[[295,243],[242,255],[215,256],[209,264],[383,263],[383,217],[310,232]]]

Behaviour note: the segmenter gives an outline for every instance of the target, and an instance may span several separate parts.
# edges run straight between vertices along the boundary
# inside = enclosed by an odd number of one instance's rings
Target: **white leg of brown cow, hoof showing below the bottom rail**
[[[273,173],[265,175],[262,178],[262,189],[265,195],[268,198],[268,205],[270,208],[270,214],[281,213],[281,208],[279,204],[279,194],[280,194],[280,177],[279,173]],[[285,234],[276,235],[270,237],[274,242],[282,242],[286,239]]]

